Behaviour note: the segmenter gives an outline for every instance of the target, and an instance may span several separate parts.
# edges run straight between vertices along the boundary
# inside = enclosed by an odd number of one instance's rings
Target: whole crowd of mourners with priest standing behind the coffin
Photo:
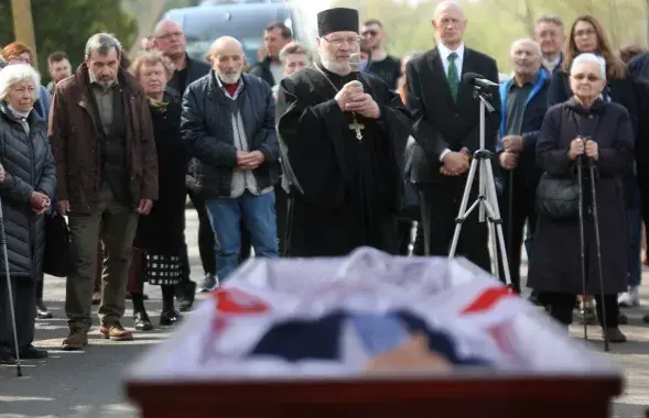
[[[69,261],[64,350],[86,348],[93,305],[106,339],[133,339],[127,300],[134,330],[152,330],[145,282],[161,287],[160,326],[173,326],[252,249],[270,258],[363,245],[447,255],[463,193],[478,193],[477,180],[466,184],[480,146],[466,73],[499,82],[485,138],[512,287],[521,292],[524,249],[531,301],[565,326],[576,309],[626,341],[619,307],[639,305],[649,224],[649,53],[615,51],[591,15],[566,30],[545,14],[533,38],[509,46],[505,76],[464,44],[457,3],[441,2],[432,26],[436,46],[400,59],[380,21],[329,9],[317,15],[317,59],[271,22],[249,65],[230,36],[191,57],[183,28],[164,20],[132,57],[108,33],[87,41],[76,69],[66,53],[50,55],[47,86],[29,46],[2,48],[0,362],[17,356],[9,283],[20,356],[47,356],[32,343],[35,319],[52,318],[43,278],[54,253]],[[201,285],[191,279],[187,198]],[[469,217],[457,254],[490,270],[487,243],[487,226]]]

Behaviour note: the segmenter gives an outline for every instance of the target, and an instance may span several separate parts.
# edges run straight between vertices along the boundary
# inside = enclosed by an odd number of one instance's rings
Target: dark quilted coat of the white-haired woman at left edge
[[[56,166],[45,121],[32,110],[26,122],[29,135],[20,119],[4,102],[0,103],[0,163],[6,172],[0,197],[9,274],[39,279],[45,251],[45,218],[34,213],[30,196],[36,190],[54,199]],[[4,258],[0,257],[0,275],[4,276]]]

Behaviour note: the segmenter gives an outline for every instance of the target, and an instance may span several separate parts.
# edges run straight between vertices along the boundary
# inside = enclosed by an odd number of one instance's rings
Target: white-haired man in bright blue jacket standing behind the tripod
[[[496,151],[502,193],[500,208],[511,283],[520,292],[520,257],[526,221],[537,227],[536,191],[541,170],[536,162],[539,129],[548,110],[550,76],[541,69],[541,48],[532,40],[515,41],[509,55],[513,78],[500,85],[502,112]],[[502,268],[500,268],[502,272]],[[501,274],[501,279],[504,279]]]

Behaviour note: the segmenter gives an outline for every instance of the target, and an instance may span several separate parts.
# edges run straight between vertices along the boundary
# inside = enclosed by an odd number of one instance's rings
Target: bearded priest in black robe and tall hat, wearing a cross
[[[398,252],[403,150],[412,121],[398,95],[358,73],[358,11],[317,15],[320,62],[284,78],[278,132],[289,176],[288,256]]]

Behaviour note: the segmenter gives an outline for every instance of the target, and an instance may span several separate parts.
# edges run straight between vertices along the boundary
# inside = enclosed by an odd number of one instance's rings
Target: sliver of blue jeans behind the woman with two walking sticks
[[[640,211],[640,189],[636,178],[627,182],[627,219],[629,224],[629,258],[627,285],[639,286],[641,280],[640,246],[642,243],[642,216]]]

